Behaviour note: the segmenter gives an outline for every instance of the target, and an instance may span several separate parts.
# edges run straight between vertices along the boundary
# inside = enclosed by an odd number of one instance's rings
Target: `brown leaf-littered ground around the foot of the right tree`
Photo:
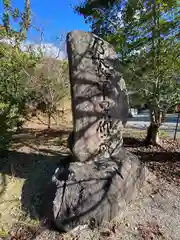
[[[143,139],[124,137],[124,147],[136,154],[160,178],[180,185],[180,142],[164,140],[160,146],[146,146]]]

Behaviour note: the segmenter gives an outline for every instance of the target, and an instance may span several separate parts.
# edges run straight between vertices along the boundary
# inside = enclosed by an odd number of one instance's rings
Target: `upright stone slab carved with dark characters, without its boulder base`
[[[67,35],[74,139],[78,161],[115,155],[122,145],[128,98],[113,47],[90,32]]]

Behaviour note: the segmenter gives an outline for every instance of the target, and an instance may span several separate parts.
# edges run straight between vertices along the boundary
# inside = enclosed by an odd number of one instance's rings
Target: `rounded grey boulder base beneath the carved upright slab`
[[[144,177],[142,163],[124,149],[109,160],[67,161],[51,183],[48,218],[64,231],[110,221],[136,196]]]

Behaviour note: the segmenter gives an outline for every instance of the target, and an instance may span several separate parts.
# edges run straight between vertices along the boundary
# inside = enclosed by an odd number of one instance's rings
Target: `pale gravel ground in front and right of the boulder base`
[[[85,228],[65,235],[45,230],[36,240],[179,240],[179,189],[153,176],[149,179],[140,198],[127,207],[125,215],[100,229]]]

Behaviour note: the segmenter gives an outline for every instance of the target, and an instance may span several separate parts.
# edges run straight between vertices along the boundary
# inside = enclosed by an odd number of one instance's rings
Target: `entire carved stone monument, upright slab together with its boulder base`
[[[136,196],[145,173],[122,146],[128,100],[113,47],[92,33],[72,31],[67,50],[72,156],[56,170],[45,205],[45,215],[63,231],[111,221]]]

